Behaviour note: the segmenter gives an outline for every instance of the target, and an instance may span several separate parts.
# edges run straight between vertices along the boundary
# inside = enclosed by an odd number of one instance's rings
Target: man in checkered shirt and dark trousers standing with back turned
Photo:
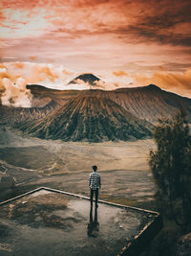
[[[94,194],[96,195],[96,208],[97,208],[98,207],[98,205],[97,205],[98,190],[101,188],[101,177],[98,173],[96,173],[97,166],[94,165],[92,168],[93,168],[94,172],[91,173],[90,177],[89,177],[91,208],[93,207]]]

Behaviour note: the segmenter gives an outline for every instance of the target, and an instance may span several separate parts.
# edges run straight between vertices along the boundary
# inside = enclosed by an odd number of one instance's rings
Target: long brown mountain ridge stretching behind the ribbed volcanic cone
[[[158,122],[159,118],[171,118],[180,108],[184,108],[188,114],[188,122],[191,123],[191,99],[162,90],[154,84],[141,87],[118,88],[112,91],[100,89],[59,91],[38,85],[34,87],[28,85],[28,88],[31,89],[33,102],[36,103],[43,100],[49,104],[52,100],[55,100],[60,101],[60,105],[64,105],[81,94],[108,98],[139,119],[145,119],[154,125]]]

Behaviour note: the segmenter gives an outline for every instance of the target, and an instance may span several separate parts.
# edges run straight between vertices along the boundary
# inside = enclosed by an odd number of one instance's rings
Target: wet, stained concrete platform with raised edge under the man
[[[161,228],[159,214],[39,188],[0,203],[0,255],[136,255]],[[133,252],[132,252],[133,251]]]

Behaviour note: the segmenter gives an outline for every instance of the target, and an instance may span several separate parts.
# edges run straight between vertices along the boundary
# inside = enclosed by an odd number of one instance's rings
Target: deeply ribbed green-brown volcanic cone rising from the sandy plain
[[[99,142],[141,139],[151,135],[152,126],[109,99],[80,95],[49,117],[20,128],[45,139]]]

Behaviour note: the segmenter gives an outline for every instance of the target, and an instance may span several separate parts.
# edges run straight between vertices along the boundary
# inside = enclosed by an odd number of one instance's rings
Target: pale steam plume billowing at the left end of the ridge
[[[32,94],[31,91],[26,88],[27,83],[25,79],[20,77],[16,82],[12,82],[10,79],[4,78],[3,85],[5,92],[1,97],[2,105],[11,105],[14,107],[32,106]]]

